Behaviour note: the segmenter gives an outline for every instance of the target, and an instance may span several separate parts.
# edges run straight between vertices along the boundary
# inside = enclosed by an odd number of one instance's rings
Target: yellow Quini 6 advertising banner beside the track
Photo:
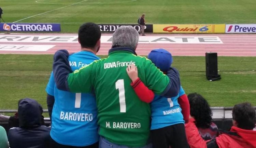
[[[225,33],[225,24],[153,24],[154,33]]]

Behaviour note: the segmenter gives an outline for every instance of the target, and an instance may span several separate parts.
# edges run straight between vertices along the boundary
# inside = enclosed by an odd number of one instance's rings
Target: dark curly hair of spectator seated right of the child
[[[212,122],[212,110],[208,102],[199,94],[192,93],[188,96],[190,115],[196,120],[197,128],[209,128]]]

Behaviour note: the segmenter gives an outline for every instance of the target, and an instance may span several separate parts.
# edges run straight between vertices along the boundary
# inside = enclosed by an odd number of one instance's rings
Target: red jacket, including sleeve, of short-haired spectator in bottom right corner
[[[218,137],[204,141],[200,136],[193,118],[185,124],[187,141],[190,148],[256,148],[256,131],[231,127],[222,131]]]

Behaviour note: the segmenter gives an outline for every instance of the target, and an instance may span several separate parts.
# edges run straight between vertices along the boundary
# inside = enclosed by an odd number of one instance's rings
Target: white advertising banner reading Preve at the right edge
[[[226,33],[256,33],[256,24],[226,24]]]

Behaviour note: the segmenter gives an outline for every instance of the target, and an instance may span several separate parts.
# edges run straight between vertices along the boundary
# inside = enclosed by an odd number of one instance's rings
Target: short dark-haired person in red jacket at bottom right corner
[[[232,110],[233,126],[230,131],[220,131],[220,135],[204,141],[191,117],[185,124],[190,148],[256,148],[255,109],[250,103],[240,103]]]

